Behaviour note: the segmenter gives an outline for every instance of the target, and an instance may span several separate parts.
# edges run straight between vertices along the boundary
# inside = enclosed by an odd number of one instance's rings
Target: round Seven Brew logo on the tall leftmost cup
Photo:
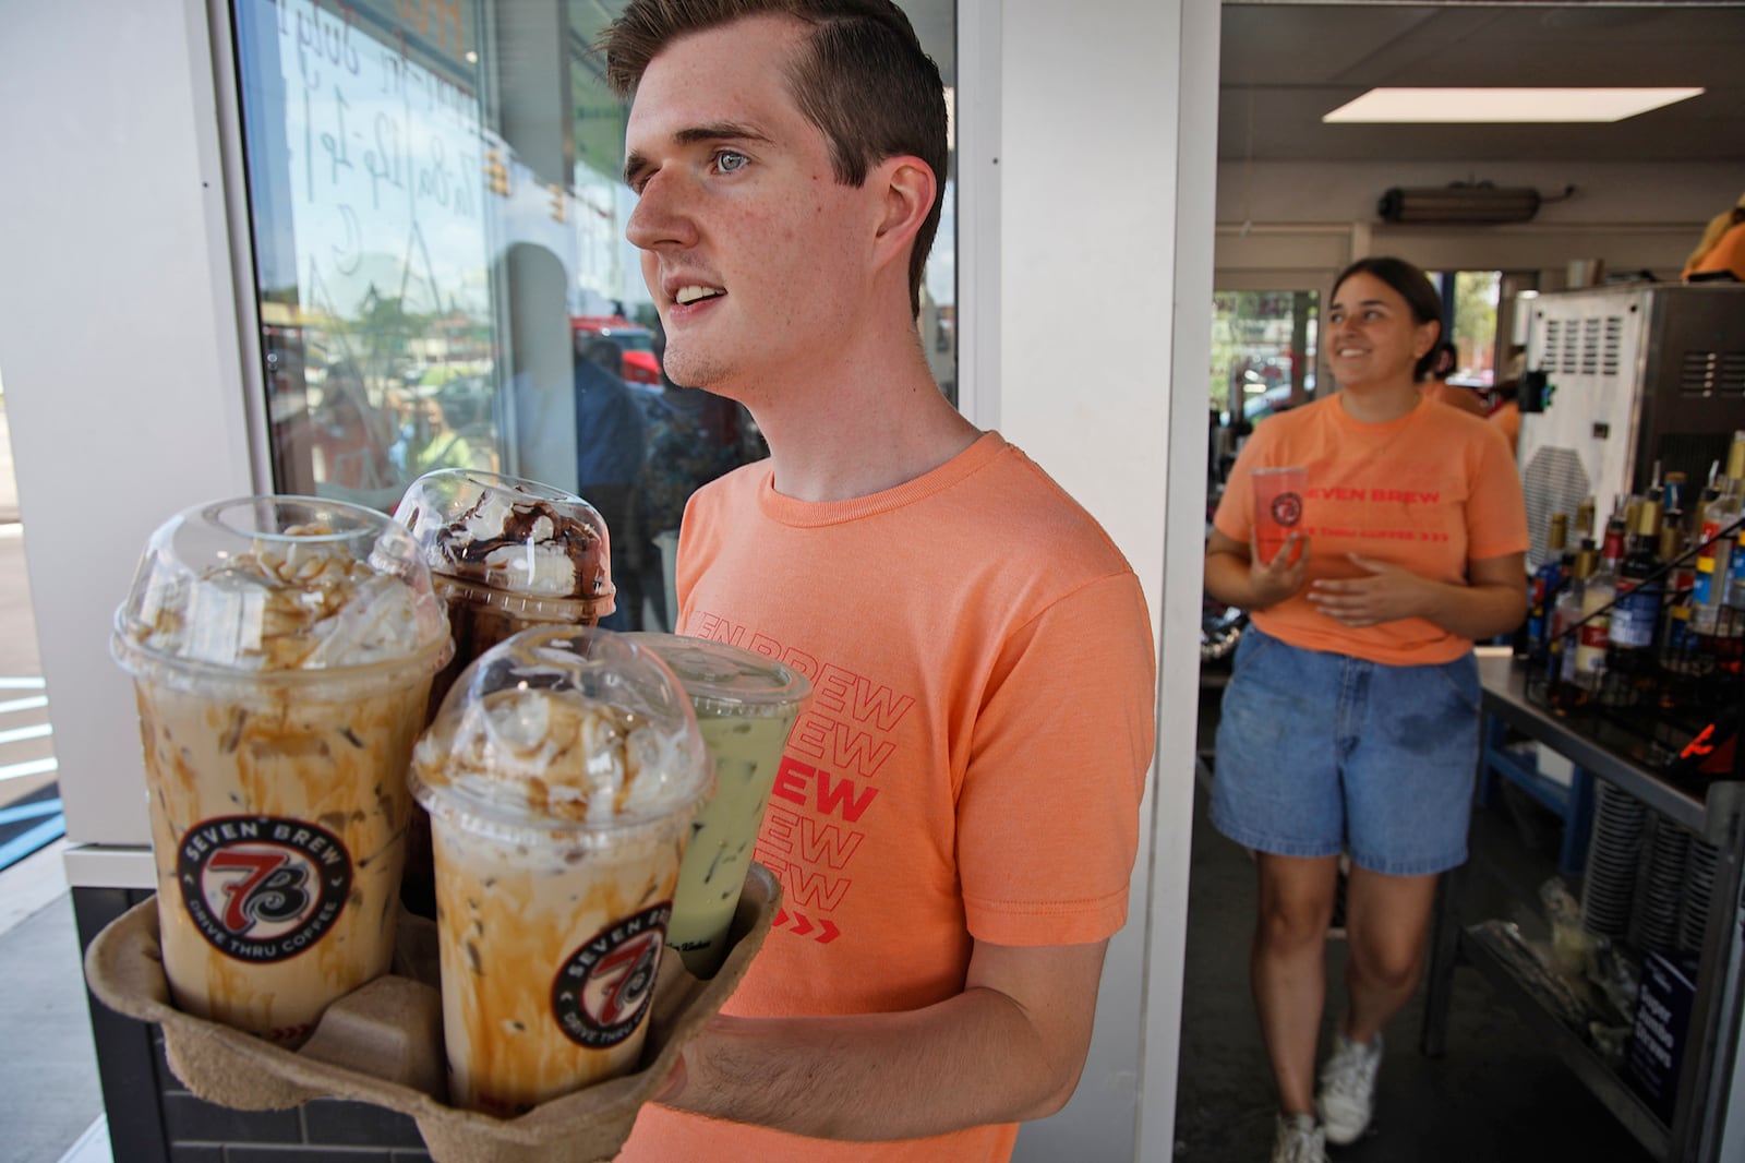
[[[181,836],[181,903],[227,957],[297,957],[333,927],[351,892],[339,836],[297,819],[220,815]]]

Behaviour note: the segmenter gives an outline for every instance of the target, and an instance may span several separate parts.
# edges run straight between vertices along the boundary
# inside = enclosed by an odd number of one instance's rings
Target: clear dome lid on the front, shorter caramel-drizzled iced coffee
[[[646,646],[536,627],[480,655],[412,756],[412,789],[473,826],[621,829],[714,788],[684,688]]]

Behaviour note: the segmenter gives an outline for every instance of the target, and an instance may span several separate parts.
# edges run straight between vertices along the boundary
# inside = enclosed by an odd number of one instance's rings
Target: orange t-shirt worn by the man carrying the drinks
[[[1098,524],[986,433],[839,503],[768,461],[701,489],[681,629],[811,679],[756,859],[784,912],[726,1011],[892,1013],[963,990],[974,941],[1080,945],[1126,922],[1155,646]],[[996,1163],[1014,1125],[839,1144],[646,1107],[623,1160]]]

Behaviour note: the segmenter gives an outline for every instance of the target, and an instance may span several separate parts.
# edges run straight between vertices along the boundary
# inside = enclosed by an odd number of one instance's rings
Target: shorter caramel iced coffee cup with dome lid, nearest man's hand
[[[436,843],[448,1097],[510,1118],[637,1067],[714,786],[653,651],[532,629],[461,674],[412,761]]]

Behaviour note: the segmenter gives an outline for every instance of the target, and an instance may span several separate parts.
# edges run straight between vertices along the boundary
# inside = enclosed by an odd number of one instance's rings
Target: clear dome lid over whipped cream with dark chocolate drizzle
[[[443,468],[412,482],[394,520],[412,531],[424,564],[443,578],[527,597],[612,611],[606,519],[572,492],[476,468]]]

